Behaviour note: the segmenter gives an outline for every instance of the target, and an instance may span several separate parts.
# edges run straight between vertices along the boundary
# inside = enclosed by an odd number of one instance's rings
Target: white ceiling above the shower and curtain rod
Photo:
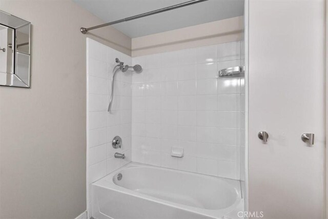
[[[74,0],[105,23],[189,0]],[[244,0],[209,0],[113,25],[131,38],[243,15]],[[88,27],[86,27],[88,28]]]

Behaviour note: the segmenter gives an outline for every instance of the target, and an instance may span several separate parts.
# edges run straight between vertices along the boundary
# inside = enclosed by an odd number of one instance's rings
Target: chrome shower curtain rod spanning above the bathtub
[[[180,4],[177,4],[177,5],[172,5],[172,6],[169,6],[169,7],[166,7],[166,8],[161,8],[161,9],[157,9],[157,10],[154,10],[154,11],[149,11],[149,12],[134,15],[134,16],[131,16],[131,17],[126,17],[126,18],[119,19],[119,20],[114,21],[114,22],[101,24],[101,25],[94,26],[94,27],[89,27],[89,28],[81,27],[80,31],[83,34],[86,34],[89,30],[94,30],[94,29],[101,28],[101,27],[106,27],[106,26],[109,26],[109,25],[119,24],[119,23],[122,23],[122,22],[127,22],[127,21],[131,21],[131,20],[138,19],[138,18],[141,18],[141,17],[147,17],[149,15],[158,14],[158,13],[165,12],[165,11],[171,11],[173,9],[182,8],[182,7],[186,7],[186,6],[189,6],[189,5],[193,5],[193,4],[197,4],[197,3],[201,3],[201,2],[206,2],[206,1],[209,1],[209,0],[192,0],[192,1],[189,1],[189,2],[185,2],[185,3],[180,3]]]

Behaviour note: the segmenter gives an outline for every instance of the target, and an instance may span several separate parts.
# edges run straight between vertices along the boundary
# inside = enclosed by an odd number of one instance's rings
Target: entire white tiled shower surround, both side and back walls
[[[130,161],[240,179],[244,80],[217,71],[243,65],[242,42],[133,58],[87,42],[89,185]],[[143,71],[116,74],[109,113],[116,57]],[[116,135],[121,149],[111,146]],[[172,157],[172,147],[184,156]]]

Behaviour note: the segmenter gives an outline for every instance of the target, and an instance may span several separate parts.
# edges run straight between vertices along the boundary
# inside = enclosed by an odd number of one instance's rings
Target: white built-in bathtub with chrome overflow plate
[[[96,219],[235,219],[243,211],[239,181],[138,163],[91,189]]]

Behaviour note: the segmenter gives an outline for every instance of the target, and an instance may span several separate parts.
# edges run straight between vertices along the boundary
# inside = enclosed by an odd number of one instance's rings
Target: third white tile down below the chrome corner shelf
[[[240,128],[240,112],[218,111],[217,127],[221,128]]]

